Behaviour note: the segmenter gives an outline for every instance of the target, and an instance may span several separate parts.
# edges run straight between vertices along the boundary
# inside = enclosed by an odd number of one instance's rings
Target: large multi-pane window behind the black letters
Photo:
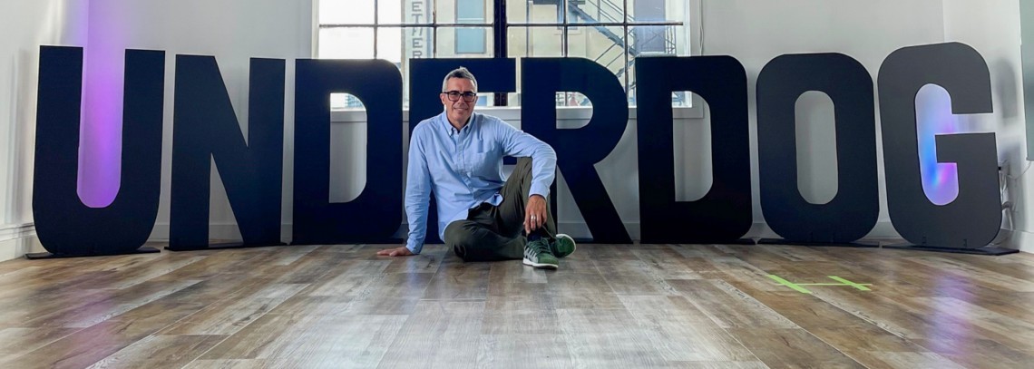
[[[386,59],[403,75],[408,60],[419,58],[581,57],[610,69],[634,105],[635,58],[691,55],[689,26],[696,13],[691,9],[699,1],[320,0],[316,57]],[[506,13],[496,13],[501,8]],[[494,100],[519,105],[519,75],[517,81],[517,93]],[[491,103],[485,95],[479,102]],[[673,94],[672,105],[690,106],[688,97]],[[339,100],[335,109],[356,105],[343,96]],[[589,101],[578,93],[558,93],[556,104]]]

